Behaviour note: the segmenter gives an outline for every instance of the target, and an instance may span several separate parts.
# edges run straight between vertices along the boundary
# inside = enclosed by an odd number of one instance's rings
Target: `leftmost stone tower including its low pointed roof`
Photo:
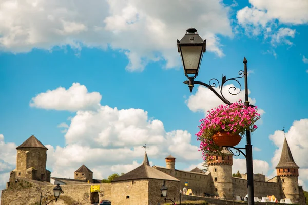
[[[46,170],[48,149],[34,135],[16,149],[17,163],[12,177],[50,182],[50,171]]]

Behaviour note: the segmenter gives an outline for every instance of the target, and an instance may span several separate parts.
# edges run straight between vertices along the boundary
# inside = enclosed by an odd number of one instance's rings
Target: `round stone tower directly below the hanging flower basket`
[[[232,163],[233,154],[229,150],[223,150],[224,156],[213,156],[214,160],[208,161],[208,170],[214,182],[214,193],[222,198],[233,197]]]

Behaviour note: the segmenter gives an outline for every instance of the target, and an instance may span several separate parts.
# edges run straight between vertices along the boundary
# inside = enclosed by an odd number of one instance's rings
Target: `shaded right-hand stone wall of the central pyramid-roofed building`
[[[167,181],[160,179],[149,179],[149,200],[148,205],[157,205],[158,202],[164,201],[164,197],[161,196],[161,186],[165,182],[165,186],[168,188],[167,198],[173,201],[180,200],[180,186],[179,181]],[[144,205],[144,204],[142,204]]]

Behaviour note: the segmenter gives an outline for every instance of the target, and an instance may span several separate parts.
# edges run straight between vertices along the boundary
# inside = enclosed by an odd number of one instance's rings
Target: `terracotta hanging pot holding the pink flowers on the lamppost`
[[[213,141],[219,146],[236,146],[240,143],[242,137],[238,134],[228,135],[226,131],[217,132],[213,135]]]

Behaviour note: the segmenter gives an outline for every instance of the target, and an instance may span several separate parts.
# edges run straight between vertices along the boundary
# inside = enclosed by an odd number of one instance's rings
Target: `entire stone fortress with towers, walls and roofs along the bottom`
[[[242,174],[242,178],[232,176],[233,154],[228,150],[224,156],[214,156],[215,160],[208,162],[206,172],[197,167],[191,171],[177,170],[176,158],[171,155],[165,158],[166,167],[151,167],[145,152],[141,166],[111,183],[101,183],[101,180],[93,179],[93,172],[85,165],[74,172],[74,179],[50,177],[50,171],[46,170],[47,148],[35,136],[29,137],[16,149],[16,169],[10,173],[7,187],[2,190],[2,205],[12,204],[12,201],[17,205],[40,204],[40,193],[51,199],[52,189],[57,183],[64,192],[56,203],[59,205],[93,204],[102,200],[109,200],[113,205],[156,205],[164,201],[160,191],[163,184],[168,187],[168,198],[175,201],[180,197],[185,200],[186,195],[179,194],[184,187],[192,190],[190,200],[195,197],[208,201],[208,198],[202,198],[204,196],[232,200],[247,194],[246,175]],[[274,195],[278,200],[289,198],[293,203],[305,204],[303,189],[298,186],[298,169],[284,138],[276,166],[277,176],[266,180],[265,175],[254,174],[255,197]],[[92,186],[98,186],[98,190],[91,191]],[[216,202],[210,204],[218,204]]]

